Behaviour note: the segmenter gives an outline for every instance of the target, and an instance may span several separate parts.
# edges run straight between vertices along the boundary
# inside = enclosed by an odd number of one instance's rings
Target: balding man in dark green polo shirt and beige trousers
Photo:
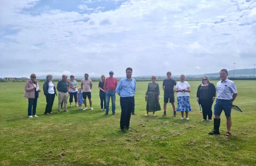
[[[68,112],[67,102],[68,102],[69,83],[67,81],[66,75],[62,75],[62,80],[60,80],[57,84],[57,90],[59,91],[58,113],[60,113],[62,101],[64,102],[64,112]]]

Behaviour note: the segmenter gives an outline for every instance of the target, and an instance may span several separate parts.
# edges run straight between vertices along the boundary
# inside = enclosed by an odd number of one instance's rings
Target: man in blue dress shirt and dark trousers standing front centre
[[[136,81],[131,77],[132,68],[126,69],[126,77],[118,82],[116,93],[120,96],[121,118],[120,128],[126,132],[125,128],[131,130],[130,118],[134,108],[134,94],[136,91]]]

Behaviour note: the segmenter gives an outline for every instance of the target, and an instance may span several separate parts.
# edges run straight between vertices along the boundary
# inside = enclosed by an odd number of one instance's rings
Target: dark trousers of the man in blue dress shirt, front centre
[[[121,105],[121,118],[120,128],[128,128],[130,125],[131,113],[134,108],[134,96],[133,97],[120,97]]]

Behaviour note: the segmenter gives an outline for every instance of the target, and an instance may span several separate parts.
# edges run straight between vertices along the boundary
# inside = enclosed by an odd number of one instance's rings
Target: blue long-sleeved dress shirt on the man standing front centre
[[[127,77],[120,80],[117,84],[116,93],[120,93],[121,97],[133,97],[136,91],[136,81]]]

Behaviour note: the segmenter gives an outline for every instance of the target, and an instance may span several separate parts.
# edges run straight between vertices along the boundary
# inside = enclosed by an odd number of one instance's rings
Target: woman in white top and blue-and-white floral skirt
[[[190,86],[187,81],[185,81],[185,75],[181,74],[180,75],[180,81],[177,82],[175,86],[175,92],[177,92],[177,109],[176,111],[181,112],[181,118],[180,120],[184,119],[184,111],[186,113],[186,120],[188,119],[188,112],[192,111],[191,106],[190,106],[190,101],[189,101],[189,92]]]

